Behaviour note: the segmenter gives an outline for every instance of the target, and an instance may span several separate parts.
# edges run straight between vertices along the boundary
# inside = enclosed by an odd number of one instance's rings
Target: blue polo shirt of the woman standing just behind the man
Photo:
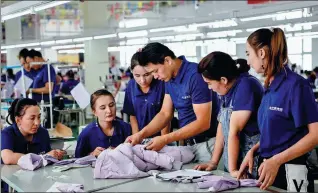
[[[127,85],[123,112],[136,116],[139,130],[148,125],[161,110],[165,95],[165,83],[153,79],[148,93],[143,93],[135,79]],[[154,136],[160,135],[160,132]],[[152,136],[152,137],[154,137]]]

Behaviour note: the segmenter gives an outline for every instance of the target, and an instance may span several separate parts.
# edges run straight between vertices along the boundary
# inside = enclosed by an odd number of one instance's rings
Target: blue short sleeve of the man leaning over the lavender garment
[[[212,101],[212,91],[209,90],[208,84],[204,82],[199,73],[193,75],[190,81],[192,104],[202,104]]]

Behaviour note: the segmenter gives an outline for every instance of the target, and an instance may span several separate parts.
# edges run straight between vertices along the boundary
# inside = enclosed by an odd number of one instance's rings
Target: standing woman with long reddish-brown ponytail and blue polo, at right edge
[[[249,64],[265,75],[265,93],[258,111],[260,142],[246,155],[239,176],[251,167],[259,150],[261,189],[273,185],[293,192],[312,191],[306,160],[318,145],[313,91],[307,80],[289,69],[286,37],[280,28],[256,30],[248,37],[246,49]]]

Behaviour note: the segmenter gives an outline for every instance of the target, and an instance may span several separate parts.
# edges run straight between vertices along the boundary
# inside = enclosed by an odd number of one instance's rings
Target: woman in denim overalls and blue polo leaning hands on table
[[[199,164],[195,169],[216,169],[223,152],[224,170],[237,177],[239,164],[259,141],[257,110],[264,89],[248,73],[250,67],[246,60],[235,61],[223,52],[210,53],[201,60],[198,68],[209,88],[220,95],[221,105],[211,161]],[[254,162],[257,163],[257,158]],[[256,178],[256,167],[250,173]]]

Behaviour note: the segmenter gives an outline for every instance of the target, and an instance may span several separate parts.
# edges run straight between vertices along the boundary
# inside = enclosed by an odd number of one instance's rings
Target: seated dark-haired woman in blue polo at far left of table
[[[28,153],[49,154],[57,159],[64,152],[51,150],[50,137],[40,126],[40,108],[33,99],[15,99],[9,108],[6,121],[11,125],[1,131],[1,162],[17,164]]]

